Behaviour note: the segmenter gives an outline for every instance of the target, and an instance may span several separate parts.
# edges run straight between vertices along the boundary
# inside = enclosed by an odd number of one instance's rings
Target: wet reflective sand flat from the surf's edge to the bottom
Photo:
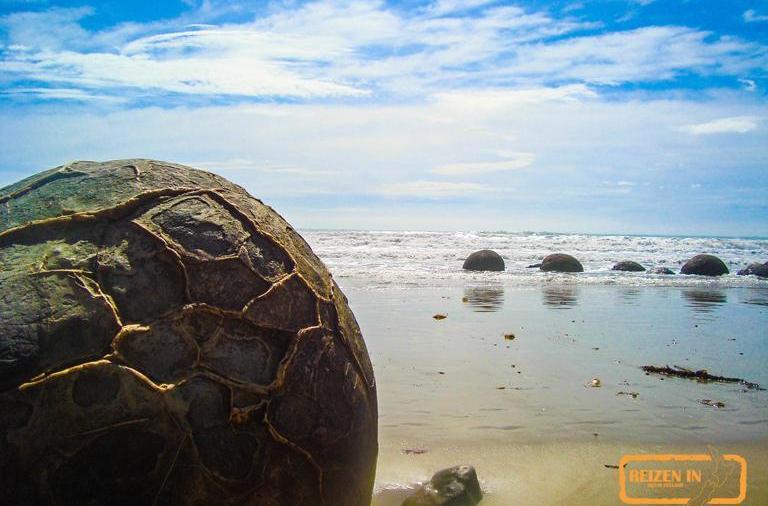
[[[709,448],[747,458],[744,504],[768,503],[768,392],[640,370],[677,364],[768,386],[765,289],[340,281],[376,368],[375,506],[463,463],[489,506],[621,504],[605,464]]]

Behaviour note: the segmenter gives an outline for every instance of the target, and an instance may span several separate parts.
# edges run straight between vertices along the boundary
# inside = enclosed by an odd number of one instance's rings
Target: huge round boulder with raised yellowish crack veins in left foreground
[[[365,506],[373,370],[307,243],[152,160],[0,189],[4,504]]]

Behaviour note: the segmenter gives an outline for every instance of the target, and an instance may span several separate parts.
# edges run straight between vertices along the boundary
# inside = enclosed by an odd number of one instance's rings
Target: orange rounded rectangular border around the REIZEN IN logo
[[[737,497],[716,497],[707,504],[741,504],[747,497],[747,461],[744,457],[736,454],[723,455],[724,460],[738,462],[741,466],[739,475],[739,495]],[[640,454],[624,455],[619,461],[619,498],[625,504],[687,504],[690,497],[629,497],[627,495],[627,475],[625,472],[627,464],[631,462],[709,462],[712,456],[706,453],[701,454]]]

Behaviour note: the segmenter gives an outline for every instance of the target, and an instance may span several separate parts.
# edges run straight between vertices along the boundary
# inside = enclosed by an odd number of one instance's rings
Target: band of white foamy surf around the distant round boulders
[[[768,239],[652,237],[539,232],[302,231],[337,280],[354,278],[370,286],[442,286],[468,280],[531,286],[563,281],[633,286],[768,287],[768,280],[737,276],[752,262],[768,261]],[[467,273],[464,259],[492,249],[506,264],[501,273]],[[528,265],[550,253],[568,253],[584,266],[578,276],[547,274]],[[616,272],[621,260],[675,272],[694,255],[721,258],[731,274],[721,278]]]

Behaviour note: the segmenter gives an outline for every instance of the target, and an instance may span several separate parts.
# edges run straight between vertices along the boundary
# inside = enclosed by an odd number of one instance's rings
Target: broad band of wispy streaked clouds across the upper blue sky
[[[216,18],[201,7],[176,20],[98,32],[83,28],[89,8],[10,14],[0,18],[0,82],[144,101],[164,94],[375,99],[657,82],[768,65],[764,46],[736,37],[683,26],[584,34],[595,23],[484,0],[412,11],[378,1],[316,1],[273,4],[267,12],[206,23]]]

